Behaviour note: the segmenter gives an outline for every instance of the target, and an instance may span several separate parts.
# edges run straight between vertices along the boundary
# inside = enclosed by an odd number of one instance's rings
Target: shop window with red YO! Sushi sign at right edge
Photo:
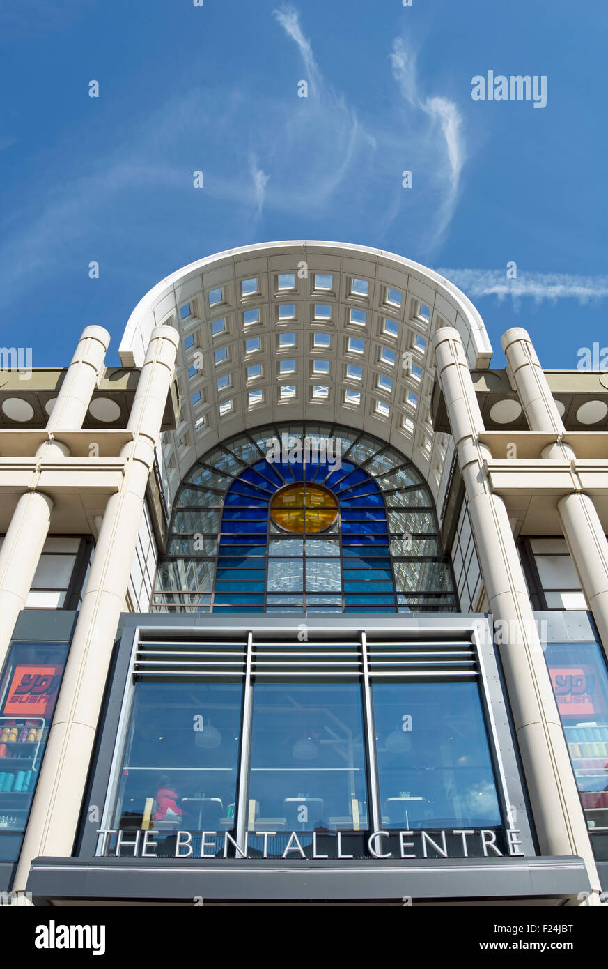
[[[544,650],[595,857],[608,860],[608,671],[597,642]]]

